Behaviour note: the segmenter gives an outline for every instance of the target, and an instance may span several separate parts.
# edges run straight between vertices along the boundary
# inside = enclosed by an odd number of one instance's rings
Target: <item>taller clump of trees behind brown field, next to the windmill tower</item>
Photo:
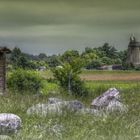
[[[81,55],[85,61],[85,68],[98,69],[102,65],[113,65],[126,63],[127,51],[118,51],[115,47],[105,43],[98,48],[86,47]]]

